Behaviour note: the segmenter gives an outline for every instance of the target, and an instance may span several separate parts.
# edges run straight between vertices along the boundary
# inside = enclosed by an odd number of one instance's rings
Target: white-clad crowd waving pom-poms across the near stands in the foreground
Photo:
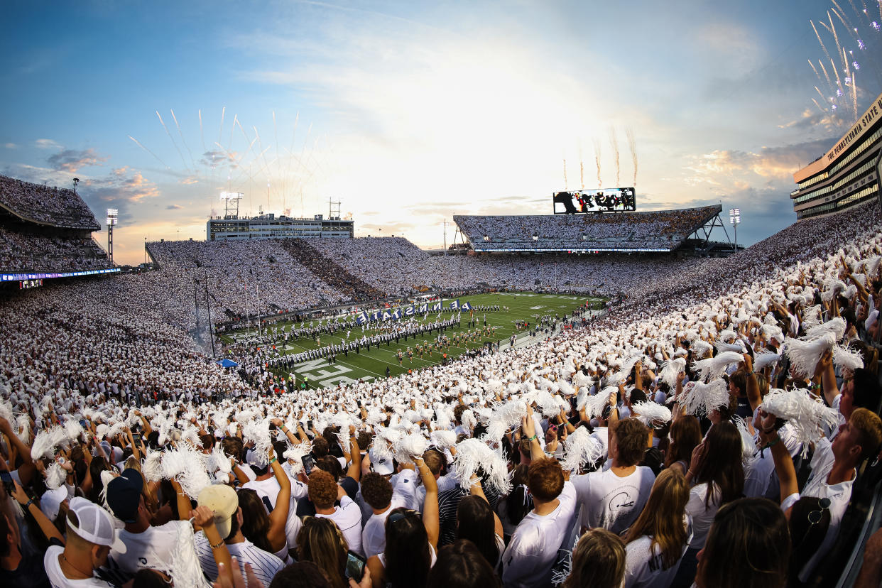
[[[13,296],[0,568],[22,586],[811,583],[879,475],[879,224],[874,206],[804,221],[647,268],[536,346],[268,398],[168,323],[191,293],[164,272]],[[859,585],[879,584],[880,538]]]

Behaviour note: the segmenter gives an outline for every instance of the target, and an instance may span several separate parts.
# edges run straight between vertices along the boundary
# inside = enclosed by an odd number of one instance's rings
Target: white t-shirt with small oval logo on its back
[[[655,474],[645,465],[624,478],[611,470],[577,476],[572,484],[582,505],[581,525],[603,527],[616,534],[625,531],[643,510],[654,481]]]

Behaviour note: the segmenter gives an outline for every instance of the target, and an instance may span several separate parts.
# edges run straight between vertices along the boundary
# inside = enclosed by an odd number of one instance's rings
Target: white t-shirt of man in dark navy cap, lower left
[[[107,568],[113,577],[121,579],[118,584],[131,580],[138,569],[159,569],[171,571],[171,562],[177,546],[177,533],[180,527],[190,526],[187,521],[170,521],[165,525],[147,527],[145,532],[128,532],[120,529],[119,539],[126,547],[124,554],[110,550]]]

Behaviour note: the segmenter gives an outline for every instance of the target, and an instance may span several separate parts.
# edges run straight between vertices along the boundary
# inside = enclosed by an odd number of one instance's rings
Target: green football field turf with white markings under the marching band
[[[500,306],[500,310],[493,311],[475,311],[475,318],[478,321],[478,329],[483,328],[483,317],[487,316],[487,324],[494,325],[497,327],[496,336],[495,337],[480,337],[476,341],[469,340],[467,344],[463,344],[460,342],[459,346],[454,346],[452,339],[453,335],[458,332],[474,332],[475,328],[468,327],[468,312],[462,313],[462,321],[460,324],[460,328],[452,328],[445,330],[445,336],[451,339],[451,346],[446,350],[448,359],[455,358],[460,354],[466,353],[468,350],[477,349],[483,346],[486,341],[494,341],[499,342],[500,345],[504,345],[509,341],[512,336],[512,333],[517,333],[519,337],[526,337],[526,331],[516,331],[515,322],[520,321],[529,321],[531,326],[535,324],[536,319],[540,316],[551,315],[554,316],[556,313],[558,316],[563,316],[564,313],[572,312],[573,309],[576,309],[580,306],[583,306],[586,301],[588,301],[589,308],[592,309],[601,309],[603,305],[603,299],[594,298],[589,296],[575,296],[568,294],[478,294],[474,296],[461,296],[460,304],[468,301],[473,306],[477,307],[478,305],[491,305],[498,304]],[[445,308],[449,307],[450,300],[445,299],[444,306]],[[503,310],[502,307],[508,307],[508,310]],[[429,313],[429,322],[434,322],[437,316],[436,313]],[[450,313],[443,313],[441,318],[443,320],[450,318],[452,315]],[[417,321],[420,321],[421,317],[417,317]],[[290,329],[289,322],[282,323],[280,325],[284,326],[285,331],[289,331]],[[307,322],[307,325],[309,322]],[[318,324],[318,323],[317,323]],[[297,324],[299,326],[299,324]],[[368,330],[364,334],[370,335],[376,331]],[[252,329],[253,333],[253,329]],[[402,373],[407,372],[407,369],[419,369],[425,368],[431,365],[436,365],[441,363],[442,361],[442,353],[443,351],[439,351],[436,348],[433,350],[431,356],[428,354],[424,354],[422,358],[420,358],[416,354],[416,346],[424,345],[427,342],[434,342],[437,331],[429,334],[426,333],[422,336],[417,336],[416,339],[412,337],[408,337],[407,341],[401,339],[398,344],[395,343],[394,340],[389,342],[387,346],[383,343],[378,349],[376,346],[370,346],[370,351],[366,351],[364,347],[362,347],[360,354],[355,354],[355,351],[350,351],[348,356],[346,354],[337,354],[336,363],[329,364],[327,358],[321,358],[317,360],[304,361],[302,363],[296,364],[292,368],[280,368],[275,371],[280,376],[288,377],[289,372],[293,372],[297,376],[297,383],[299,384],[303,381],[304,376],[309,377],[310,388],[313,387],[330,387],[336,386],[339,383],[353,383],[358,379],[362,380],[374,380],[374,379],[382,379],[385,378],[385,369],[388,367],[390,371],[390,376],[399,376]],[[238,339],[245,338],[244,331],[237,331],[236,336]],[[332,335],[325,333],[321,337],[321,346],[328,346],[332,344],[339,344],[341,341],[346,341],[346,330],[337,331]],[[355,341],[356,339],[361,339],[362,337],[362,329],[361,327],[356,327],[352,330],[352,334],[348,341]],[[232,339],[227,335],[222,335],[221,339],[225,342],[230,343]],[[280,345],[280,344],[277,344]],[[410,347],[414,351],[414,357],[412,361],[407,360],[407,347]],[[284,348],[285,354],[297,354],[307,349],[315,349],[318,347],[316,342],[312,339],[296,339],[294,341],[288,340],[288,345]],[[404,353],[404,361],[402,365],[399,365],[397,352],[401,350]]]

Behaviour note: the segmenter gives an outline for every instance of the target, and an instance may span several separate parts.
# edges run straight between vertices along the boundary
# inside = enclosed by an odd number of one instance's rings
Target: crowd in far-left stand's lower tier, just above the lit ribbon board
[[[110,265],[107,254],[91,237],[62,238],[0,227],[0,270],[76,272]]]

